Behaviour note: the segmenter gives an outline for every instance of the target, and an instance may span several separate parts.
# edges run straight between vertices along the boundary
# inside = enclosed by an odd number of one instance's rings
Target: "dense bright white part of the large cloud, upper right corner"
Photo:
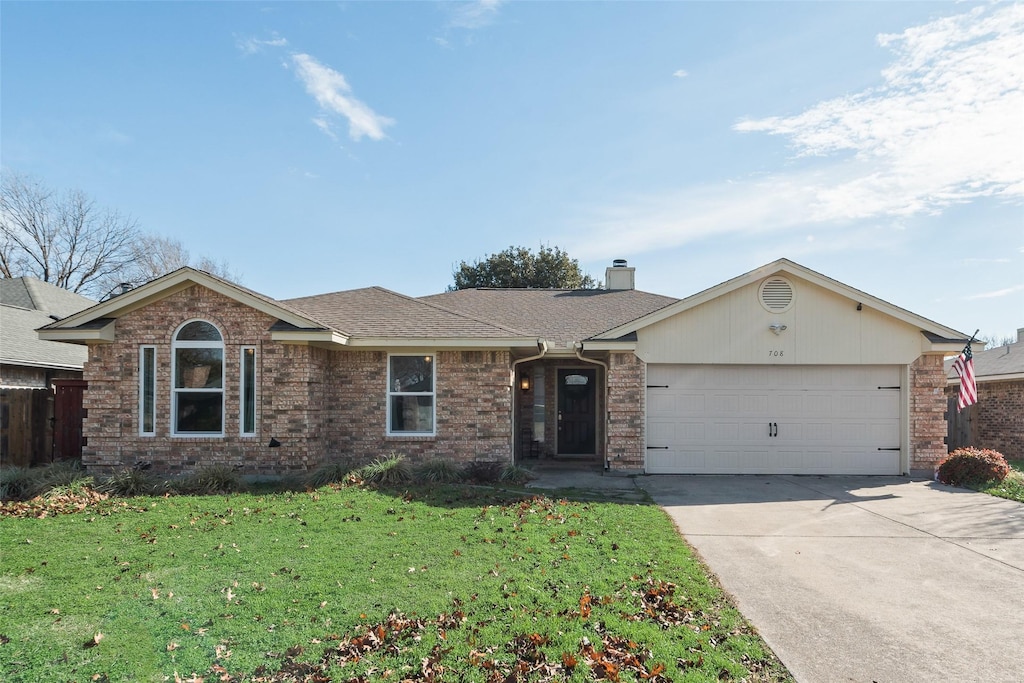
[[[735,129],[787,137],[798,156],[853,152],[859,170],[820,215],[937,213],[979,197],[1024,199],[1024,7],[977,7],[879,36],[883,85]]]

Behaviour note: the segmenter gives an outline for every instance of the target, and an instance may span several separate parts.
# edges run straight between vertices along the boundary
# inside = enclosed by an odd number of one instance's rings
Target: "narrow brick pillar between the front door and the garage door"
[[[644,467],[644,365],[633,353],[608,359],[608,468],[638,472]]]

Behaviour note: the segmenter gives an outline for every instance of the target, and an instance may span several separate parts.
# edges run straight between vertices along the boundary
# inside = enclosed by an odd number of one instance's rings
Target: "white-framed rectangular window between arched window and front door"
[[[434,433],[434,356],[388,356],[388,434]]]

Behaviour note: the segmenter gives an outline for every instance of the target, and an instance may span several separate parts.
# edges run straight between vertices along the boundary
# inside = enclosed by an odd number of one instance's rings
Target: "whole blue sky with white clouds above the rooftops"
[[[559,247],[1024,328],[1024,5],[18,2],[0,163],[278,299]]]

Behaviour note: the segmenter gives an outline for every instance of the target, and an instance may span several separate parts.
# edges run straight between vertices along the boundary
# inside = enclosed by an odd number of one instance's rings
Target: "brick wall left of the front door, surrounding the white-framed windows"
[[[171,341],[190,319],[212,323],[223,337],[223,436],[171,435]],[[511,460],[507,351],[436,353],[436,436],[388,437],[387,354],[273,342],[274,322],[200,286],[119,317],[116,341],[90,347],[85,367],[83,463],[96,474],[147,462],[171,474],[219,464],[275,475],[328,460],[360,464],[392,452],[460,462]],[[140,345],[157,349],[155,436],[139,434]],[[256,347],[255,436],[240,435],[243,346]],[[271,438],[281,445],[269,447]]]

